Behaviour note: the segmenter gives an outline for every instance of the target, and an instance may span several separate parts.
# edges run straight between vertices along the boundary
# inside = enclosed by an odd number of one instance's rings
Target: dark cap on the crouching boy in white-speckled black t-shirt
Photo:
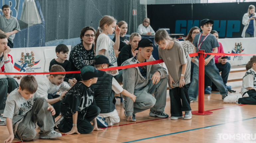
[[[99,77],[102,77],[104,73],[105,73],[104,71],[97,70],[94,66],[91,66],[91,65],[84,66],[80,71],[80,75],[83,80],[99,78]]]

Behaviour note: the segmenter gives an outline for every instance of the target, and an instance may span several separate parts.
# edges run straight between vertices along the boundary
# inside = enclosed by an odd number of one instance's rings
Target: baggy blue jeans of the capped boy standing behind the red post
[[[215,64],[204,66],[204,73],[210,78],[210,80],[219,89],[221,95],[227,95],[227,88],[224,85],[219,71]],[[196,100],[198,95],[198,66],[194,64],[192,83],[189,87],[189,98]]]

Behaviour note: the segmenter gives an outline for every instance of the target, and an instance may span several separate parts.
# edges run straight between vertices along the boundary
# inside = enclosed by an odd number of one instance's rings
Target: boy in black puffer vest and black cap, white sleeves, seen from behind
[[[113,66],[105,55],[96,55],[93,58],[94,66],[99,69],[106,69],[108,66]],[[104,85],[104,86],[102,86]],[[95,89],[94,96],[97,106],[100,108],[100,114],[96,118],[100,126],[107,127],[120,122],[120,118],[115,109],[115,95],[130,97],[133,102],[136,96],[123,89],[113,75],[104,73],[102,77],[98,78],[96,84],[93,84]]]

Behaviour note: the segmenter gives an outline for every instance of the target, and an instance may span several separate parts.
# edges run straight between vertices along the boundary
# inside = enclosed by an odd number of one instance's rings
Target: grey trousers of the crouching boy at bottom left
[[[38,98],[33,108],[19,122],[13,125],[14,136],[23,141],[30,141],[35,138],[36,123],[39,122],[40,136],[46,136],[51,130],[54,130],[52,113],[47,110],[48,102],[45,98]],[[22,139],[21,139],[22,137]]]

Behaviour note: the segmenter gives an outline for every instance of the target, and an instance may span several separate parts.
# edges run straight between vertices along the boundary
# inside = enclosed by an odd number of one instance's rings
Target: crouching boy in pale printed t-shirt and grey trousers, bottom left
[[[53,106],[40,95],[33,96],[37,87],[36,78],[28,75],[21,79],[20,87],[9,94],[3,117],[6,118],[10,136],[4,143],[12,142],[14,137],[23,141],[34,139],[37,134],[35,130],[36,122],[41,126],[40,138],[47,139],[62,136],[61,133],[54,130],[54,122],[51,119],[51,116],[55,115]]]

